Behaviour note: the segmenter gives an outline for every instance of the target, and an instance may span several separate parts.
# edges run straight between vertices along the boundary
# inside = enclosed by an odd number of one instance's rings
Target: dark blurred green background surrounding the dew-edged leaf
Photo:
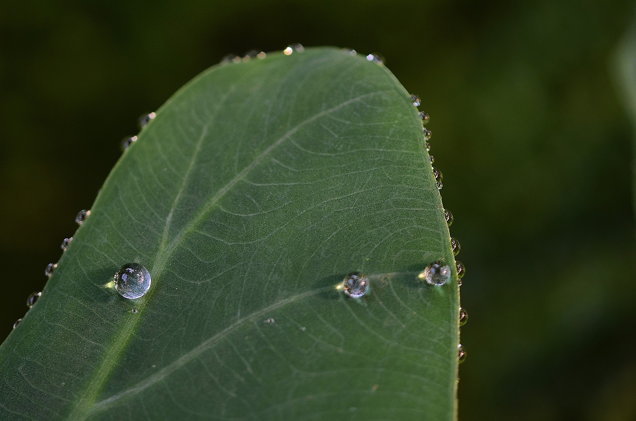
[[[460,419],[635,420],[628,1],[0,6],[0,339],[140,114],[227,53],[379,52],[431,115],[467,266]]]

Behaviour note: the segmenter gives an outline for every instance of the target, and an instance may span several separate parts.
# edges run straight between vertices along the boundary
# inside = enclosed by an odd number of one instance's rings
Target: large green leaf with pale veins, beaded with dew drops
[[[450,282],[419,280],[438,260]],[[152,277],[136,300],[112,287],[130,262]],[[0,418],[450,420],[458,293],[391,72],[333,48],[214,66],[123,154],[3,343]]]

